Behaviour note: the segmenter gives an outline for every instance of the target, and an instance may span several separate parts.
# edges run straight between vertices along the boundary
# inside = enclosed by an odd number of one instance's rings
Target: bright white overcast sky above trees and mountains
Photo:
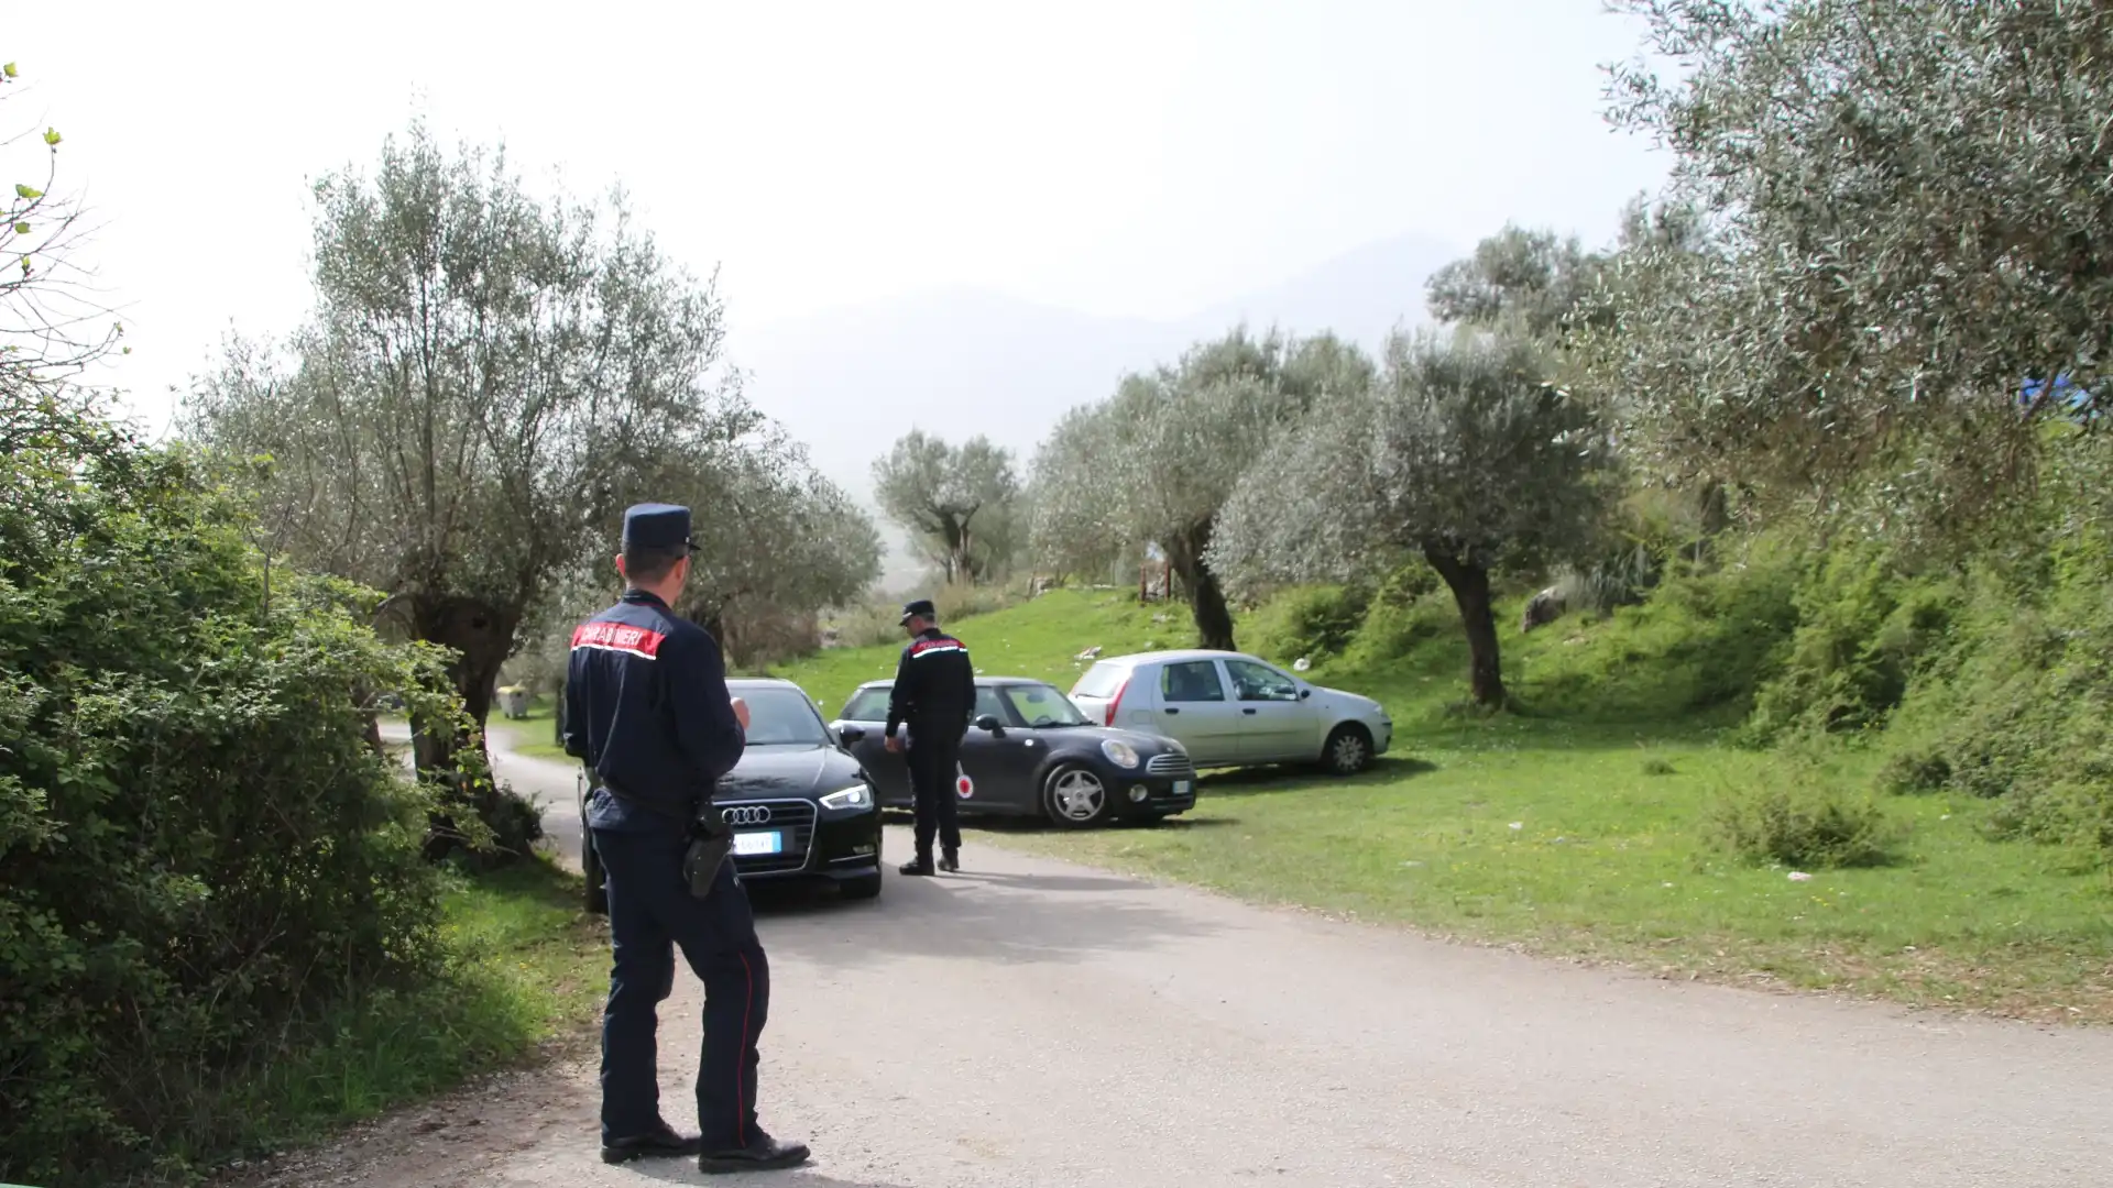
[[[1597,0],[106,0],[8,25],[0,131],[66,135],[133,347],[99,378],[150,425],[230,326],[300,319],[308,182],[416,112],[535,182],[621,182],[721,266],[735,353],[932,287],[1177,317],[1403,233],[1604,241],[1663,173],[1600,116],[1600,66],[1640,42]]]

